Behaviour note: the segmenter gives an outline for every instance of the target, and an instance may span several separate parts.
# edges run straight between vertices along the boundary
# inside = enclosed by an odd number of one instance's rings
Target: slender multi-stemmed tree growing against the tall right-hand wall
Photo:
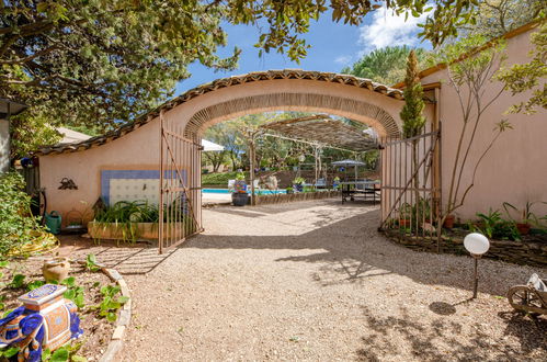
[[[498,68],[505,58],[504,44],[495,41],[490,47],[477,53],[476,49],[486,41],[480,35],[470,36],[443,47],[436,55],[440,64],[447,65],[448,83],[454,89],[459,104],[460,114],[454,121],[459,118],[461,122],[457,134],[455,157],[447,174],[449,186],[445,199],[446,204],[437,216],[437,225],[443,225],[446,216],[465,204],[469,191],[475,185],[480,165],[501,134],[512,128],[506,120],[500,120],[495,123],[490,142],[486,146],[475,142],[479,124],[486,121],[485,112],[504,91],[502,84],[498,90],[495,86],[491,86],[491,82],[495,80]],[[471,54],[471,56],[461,57],[465,54]],[[492,95],[487,95],[486,87],[491,87]],[[471,151],[478,157],[470,157]],[[464,181],[464,174],[470,174],[468,182]],[[441,240],[441,227],[437,227],[437,239]]]

